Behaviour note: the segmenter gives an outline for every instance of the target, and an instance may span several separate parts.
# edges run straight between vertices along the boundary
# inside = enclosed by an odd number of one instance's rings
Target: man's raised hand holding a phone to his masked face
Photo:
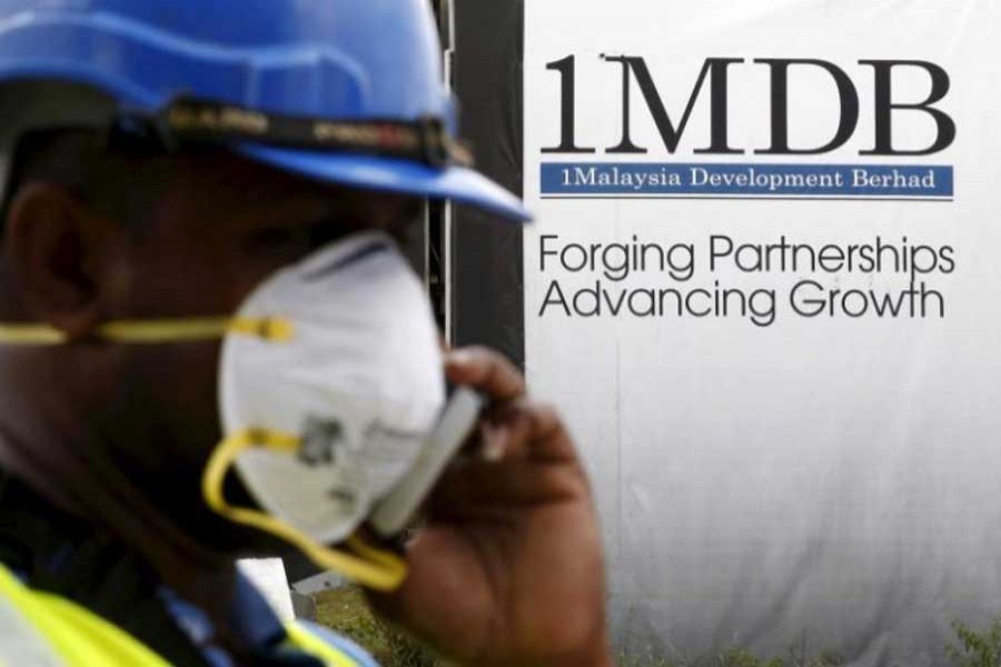
[[[450,352],[446,371],[493,401],[482,449],[438,486],[409,578],[377,607],[463,665],[611,665],[601,536],[562,421],[495,352]]]

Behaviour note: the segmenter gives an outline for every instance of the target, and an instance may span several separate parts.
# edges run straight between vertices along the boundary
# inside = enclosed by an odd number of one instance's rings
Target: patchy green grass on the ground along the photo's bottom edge
[[[315,599],[319,623],[364,646],[384,667],[448,667],[432,650],[377,618],[356,588],[329,590]],[[1001,616],[987,628],[971,628],[960,621],[952,627],[955,639],[944,648],[944,655],[953,667],[1001,667]],[[618,667],[839,667],[844,664],[838,654],[814,655],[802,644],[771,658],[742,649],[691,659],[668,658],[651,649],[621,654],[615,661]]]

